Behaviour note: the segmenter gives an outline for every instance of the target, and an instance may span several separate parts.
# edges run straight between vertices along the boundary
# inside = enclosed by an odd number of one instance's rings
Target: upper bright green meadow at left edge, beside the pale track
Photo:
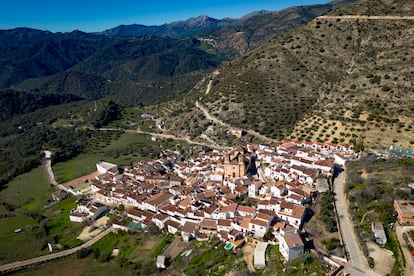
[[[0,192],[0,201],[16,209],[34,212],[43,208],[53,191],[44,166],[40,166],[11,180]]]

